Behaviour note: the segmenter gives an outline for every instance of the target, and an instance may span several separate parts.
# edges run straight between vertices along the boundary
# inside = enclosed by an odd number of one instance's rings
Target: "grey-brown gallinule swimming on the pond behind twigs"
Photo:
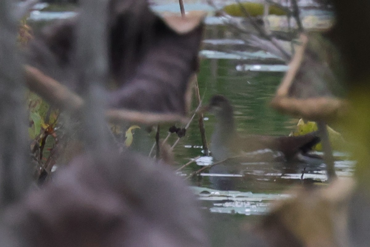
[[[224,160],[257,150],[270,149],[282,153],[287,161],[301,161],[316,159],[309,154],[315,144],[320,142],[316,132],[303,136],[239,136],[236,133],[233,107],[228,99],[222,95],[212,97],[205,111],[215,114],[216,124],[211,138],[211,154],[215,160]],[[319,160],[319,163],[321,161]]]

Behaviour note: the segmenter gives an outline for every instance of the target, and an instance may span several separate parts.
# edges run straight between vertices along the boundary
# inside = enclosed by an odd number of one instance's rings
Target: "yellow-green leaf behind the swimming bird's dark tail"
[[[296,129],[291,133],[292,136],[301,136],[305,135],[307,133],[317,131],[317,124],[316,122],[313,121],[307,121],[305,122],[303,119],[300,119],[298,121]],[[327,126],[327,131],[329,133],[329,140],[330,144],[332,145],[333,150],[338,150],[338,151],[344,151],[346,150],[346,141],[342,137],[340,133],[337,131],[333,130],[329,126]],[[318,143],[313,147],[313,150],[316,151],[322,151],[322,144]]]

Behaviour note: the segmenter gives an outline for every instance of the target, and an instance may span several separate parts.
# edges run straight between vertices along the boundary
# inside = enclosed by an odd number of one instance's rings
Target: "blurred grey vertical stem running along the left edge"
[[[17,53],[15,1],[0,1],[0,208],[16,201],[30,181],[25,89]]]

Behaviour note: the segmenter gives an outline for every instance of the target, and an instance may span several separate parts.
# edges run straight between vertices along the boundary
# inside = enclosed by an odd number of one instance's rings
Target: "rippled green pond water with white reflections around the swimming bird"
[[[199,90],[204,102],[214,94],[222,94],[232,102],[238,133],[263,135],[289,135],[296,127],[298,119],[284,116],[269,107],[283,73],[274,71],[239,71],[240,64],[248,61],[235,59],[204,59],[198,75]],[[251,64],[250,66],[255,66]],[[266,65],[266,67],[269,67]],[[195,106],[194,106],[195,108]],[[206,137],[212,135],[215,117],[205,114]],[[175,141],[175,135],[171,141]],[[212,147],[211,147],[212,149]],[[198,121],[194,120],[186,136],[174,149],[178,166],[191,158],[203,156],[202,141]],[[346,154],[335,152],[335,162],[339,176],[351,176],[354,162],[346,160]],[[343,160],[344,157],[344,160]],[[204,165],[212,164],[212,157],[200,157],[193,164],[181,170],[182,176],[188,176]],[[284,164],[277,164],[283,167]],[[317,183],[326,181],[324,164],[317,170],[305,173],[304,178]],[[276,164],[258,163],[223,163],[211,170],[205,170],[193,183],[200,200],[206,201],[208,209],[214,213],[263,214],[273,200],[285,198],[282,194],[288,186],[301,183],[304,165],[297,167],[295,173],[283,174]],[[221,184],[221,185],[220,185]],[[222,191],[225,186],[232,190]],[[216,190],[214,190],[216,189]],[[211,203],[212,202],[212,203]]]

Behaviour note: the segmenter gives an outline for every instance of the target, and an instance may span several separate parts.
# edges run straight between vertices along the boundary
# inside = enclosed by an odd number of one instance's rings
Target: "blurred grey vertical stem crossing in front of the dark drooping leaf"
[[[110,141],[104,111],[107,93],[104,85],[108,71],[108,0],[81,1],[78,23],[78,87],[85,98],[84,139],[95,154],[107,148]],[[95,152],[96,151],[96,152]]]

